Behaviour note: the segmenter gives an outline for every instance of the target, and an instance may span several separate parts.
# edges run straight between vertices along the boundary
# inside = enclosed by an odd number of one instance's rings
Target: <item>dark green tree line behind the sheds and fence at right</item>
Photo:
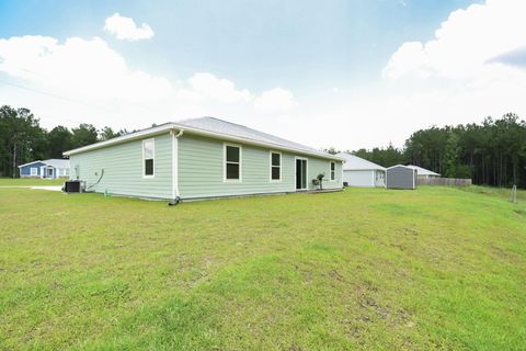
[[[476,184],[526,188],[526,123],[513,113],[480,124],[421,129],[403,148],[350,152],[384,167],[416,165],[443,177],[471,178]]]

